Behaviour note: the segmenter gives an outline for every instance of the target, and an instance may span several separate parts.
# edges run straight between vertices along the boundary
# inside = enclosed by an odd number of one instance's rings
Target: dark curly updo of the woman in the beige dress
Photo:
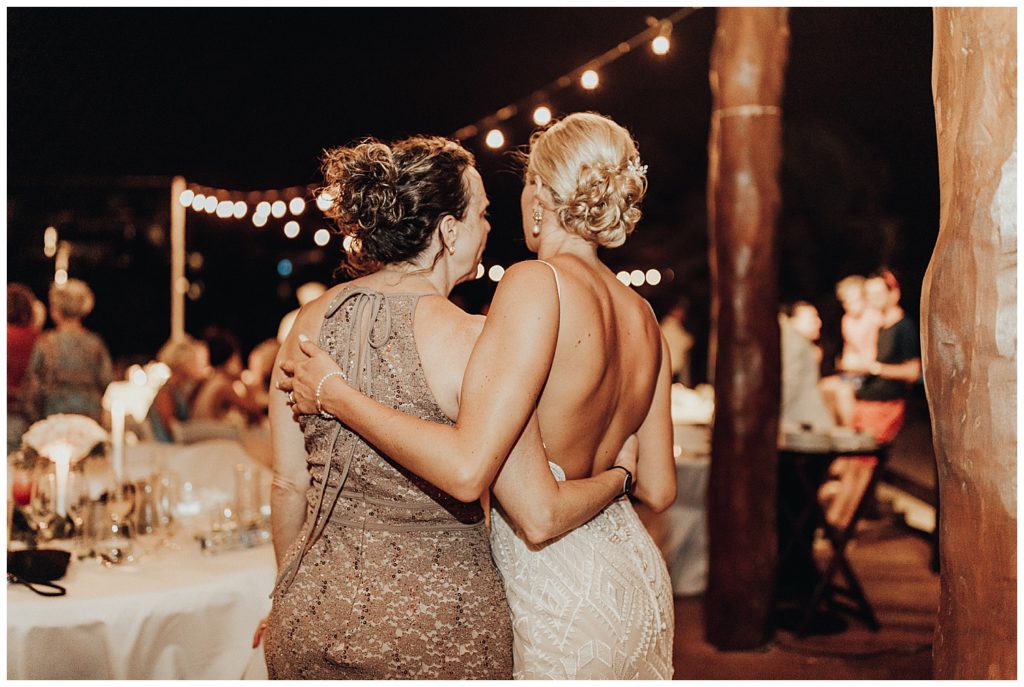
[[[445,215],[465,218],[463,173],[475,162],[462,145],[439,136],[391,144],[371,138],[325,151],[322,192],[333,200],[325,214],[352,238],[339,269],[358,276],[420,255]]]

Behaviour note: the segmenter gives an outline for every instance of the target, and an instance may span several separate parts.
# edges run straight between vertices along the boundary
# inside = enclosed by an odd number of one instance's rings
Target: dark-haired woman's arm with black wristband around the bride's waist
[[[637,441],[626,440],[615,465],[636,473]],[[494,491],[502,510],[530,544],[574,529],[623,492],[625,473],[605,470],[587,479],[559,482],[548,467],[535,414],[505,462]]]

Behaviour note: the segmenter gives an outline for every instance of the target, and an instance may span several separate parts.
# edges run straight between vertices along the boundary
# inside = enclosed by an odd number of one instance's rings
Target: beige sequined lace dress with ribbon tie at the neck
[[[417,301],[346,288],[319,345],[365,393],[451,424],[420,366]],[[301,427],[307,524],[272,595],[270,678],[510,679],[511,621],[480,505],[450,497],[334,420],[309,416]]]

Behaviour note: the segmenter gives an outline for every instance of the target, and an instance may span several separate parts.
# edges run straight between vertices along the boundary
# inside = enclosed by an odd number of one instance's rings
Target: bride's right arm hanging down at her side
[[[672,369],[669,347],[662,337],[662,368],[654,397],[643,424],[637,430],[640,457],[634,496],[660,513],[676,500],[676,459],[672,439]]]

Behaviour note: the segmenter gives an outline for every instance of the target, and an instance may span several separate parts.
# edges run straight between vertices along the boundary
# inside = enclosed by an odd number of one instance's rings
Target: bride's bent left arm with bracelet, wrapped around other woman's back
[[[460,501],[476,501],[534,413],[557,338],[558,299],[551,270],[538,262],[519,263],[505,272],[495,292],[466,368],[454,426],[382,405],[339,376],[324,383],[322,405],[403,467]],[[298,400],[293,410],[314,413],[316,384],[338,367],[311,343],[300,347],[310,357],[283,369],[302,373],[292,380]]]

